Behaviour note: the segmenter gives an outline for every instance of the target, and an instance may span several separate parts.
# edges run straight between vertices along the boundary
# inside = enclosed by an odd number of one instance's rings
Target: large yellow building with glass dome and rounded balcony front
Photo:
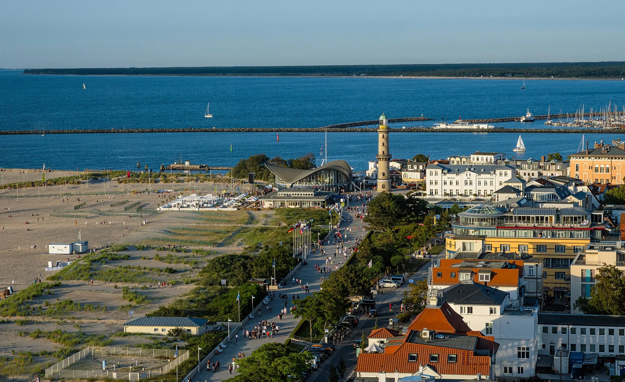
[[[479,258],[482,252],[527,253],[543,263],[546,294],[565,300],[572,260],[601,238],[604,226],[591,223],[584,208],[532,208],[478,205],[458,214],[446,233],[446,258]]]

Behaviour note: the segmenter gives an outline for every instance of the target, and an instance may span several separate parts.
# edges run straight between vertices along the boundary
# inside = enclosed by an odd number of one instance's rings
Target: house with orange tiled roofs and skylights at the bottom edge
[[[382,352],[361,353],[359,377],[395,380],[412,375],[452,380],[486,380],[493,375],[499,345],[492,336],[471,331],[447,303],[427,306],[412,321],[406,335],[387,338]]]

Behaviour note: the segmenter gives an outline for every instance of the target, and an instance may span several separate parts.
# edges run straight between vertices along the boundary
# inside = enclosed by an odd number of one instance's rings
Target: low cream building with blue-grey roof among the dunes
[[[138,317],[124,322],[126,333],[149,333],[167,335],[169,330],[182,328],[186,333],[199,336],[206,332],[208,320],[189,317]]]

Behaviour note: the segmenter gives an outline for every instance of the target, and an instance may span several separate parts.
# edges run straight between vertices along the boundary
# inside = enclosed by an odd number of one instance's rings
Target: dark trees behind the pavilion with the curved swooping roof
[[[282,157],[270,159],[265,154],[256,154],[251,155],[251,157],[247,159],[239,160],[236,166],[234,166],[232,174],[235,178],[245,179],[247,178],[247,174],[254,172],[256,174],[256,179],[272,182],[274,180],[274,174],[264,166],[265,163],[299,170],[311,170],[317,167],[316,158],[311,152],[295,159],[284,159]]]

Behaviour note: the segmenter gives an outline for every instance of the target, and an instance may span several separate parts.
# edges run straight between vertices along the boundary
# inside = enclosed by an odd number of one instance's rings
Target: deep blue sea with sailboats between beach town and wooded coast
[[[519,79],[410,79],[367,77],[170,77],[37,76],[0,71],[0,130],[124,129],[187,127],[320,127],[359,120],[425,116],[449,122],[598,110],[625,104],[625,81]],[[83,83],[86,89],[83,89]],[[210,102],[213,118],[205,118]],[[434,121],[391,127],[431,126]],[[495,124],[504,128],[545,128],[543,121]],[[395,159],[416,154],[431,159],[469,155],[476,150],[504,152],[508,158],[538,159],[581,149],[582,134],[521,134],[526,152],[512,152],[519,134],[396,133],[390,135]],[[625,134],[585,134],[591,142]],[[323,150],[322,150],[323,147]],[[0,135],[0,167],[133,169],[140,162],[232,166],[253,154],[296,158],[309,152],[317,164],[346,160],[366,170],[375,160],[375,132],[216,132],[137,134]]]

